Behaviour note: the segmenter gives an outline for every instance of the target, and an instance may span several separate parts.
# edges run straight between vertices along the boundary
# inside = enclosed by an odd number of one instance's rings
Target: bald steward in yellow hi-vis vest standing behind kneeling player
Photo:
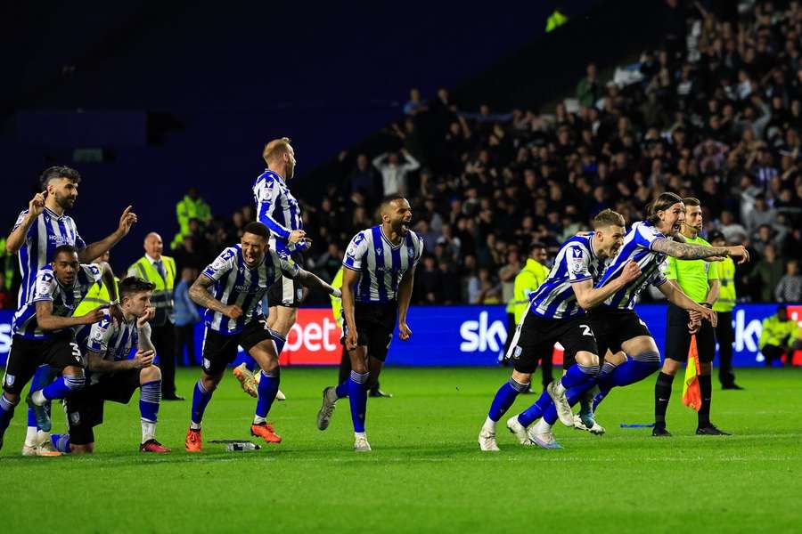
[[[151,231],[144,240],[145,255],[128,268],[128,276],[138,276],[156,284],[151,305],[156,315],[151,320],[151,342],[156,347],[161,368],[161,398],[184,401],[176,394],[176,326],[173,317],[173,288],[176,281],[176,260],[162,255],[161,236]]]

